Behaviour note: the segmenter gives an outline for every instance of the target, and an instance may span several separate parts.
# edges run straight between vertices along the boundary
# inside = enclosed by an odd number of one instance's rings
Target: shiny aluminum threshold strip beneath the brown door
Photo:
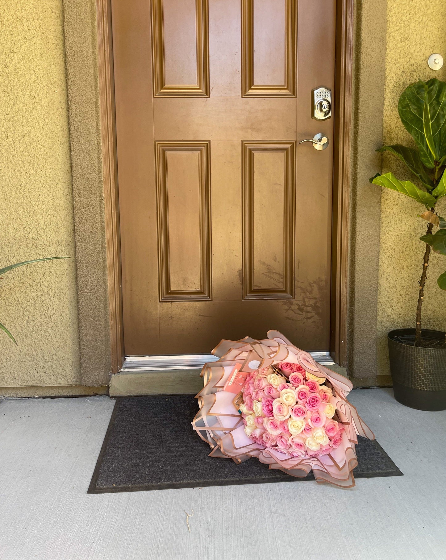
[[[310,352],[316,362],[324,366],[333,365],[329,352]],[[126,356],[123,372],[131,371],[172,371],[172,370],[201,370],[208,362],[215,362],[219,358],[212,354],[183,354],[174,356]]]

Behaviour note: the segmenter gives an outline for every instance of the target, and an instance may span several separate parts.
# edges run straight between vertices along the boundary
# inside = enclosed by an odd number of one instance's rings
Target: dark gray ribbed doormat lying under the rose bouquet
[[[192,430],[197,410],[192,395],[118,398],[88,492],[314,480],[270,470],[257,459],[237,465],[209,457],[210,447]],[[355,478],[403,474],[376,441],[359,437],[356,453]]]

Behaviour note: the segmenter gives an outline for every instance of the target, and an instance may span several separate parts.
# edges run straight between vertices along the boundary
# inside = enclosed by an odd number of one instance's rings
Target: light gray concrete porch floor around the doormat
[[[446,559],[446,411],[403,407],[391,389],[350,400],[403,477],[93,495],[114,401],[3,400],[0,558]]]

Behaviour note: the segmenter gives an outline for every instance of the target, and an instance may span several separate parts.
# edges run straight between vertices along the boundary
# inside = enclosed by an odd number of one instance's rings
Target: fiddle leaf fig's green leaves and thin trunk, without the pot
[[[419,186],[408,180],[399,180],[392,173],[377,173],[370,179],[374,185],[396,190],[413,198],[425,207],[419,215],[428,222],[422,273],[416,310],[415,345],[421,344],[421,307],[431,250],[446,255],[446,220],[436,212],[436,203],[446,195],[446,82],[433,78],[419,80],[408,86],[398,101],[398,113],[407,132],[415,141],[415,147],[383,146],[378,152],[390,152],[397,156],[415,176]],[[434,231],[434,228],[436,231]],[[446,272],[437,279],[438,286],[446,290]]]

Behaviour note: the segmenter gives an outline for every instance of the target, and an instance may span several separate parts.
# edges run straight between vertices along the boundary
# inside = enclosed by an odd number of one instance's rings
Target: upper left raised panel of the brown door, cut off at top
[[[155,97],[208,97],[207,0],[152,0]]]

